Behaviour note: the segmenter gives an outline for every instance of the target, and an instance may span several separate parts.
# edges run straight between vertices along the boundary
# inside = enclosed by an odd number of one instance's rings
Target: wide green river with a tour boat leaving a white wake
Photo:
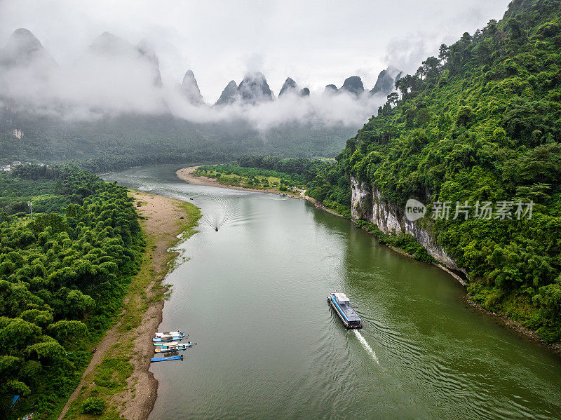
[[[306,201],[187,184],[178,168],[104,175],[204,215],[165,280],[160,327],[197,345],[151,366],[151,420],[561,415],[561,360],[465,304],[444,271]],[[327,306],[335,290],[362,330]]]

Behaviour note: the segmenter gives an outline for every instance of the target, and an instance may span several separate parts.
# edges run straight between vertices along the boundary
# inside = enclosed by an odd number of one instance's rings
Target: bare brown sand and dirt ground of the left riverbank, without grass
[[[70,396],[65,407],[62,409],[58,420],[65,419],[72,402],[79,396],[85,394],[88,389],[95,386],[93,383],[93,373],[95,367],[104,360],[106,355],[125,342],[133,342],[131,349],[132,358],[130,363],[133,365],[133,373],[126,380],[123,391],[111,397],[110,403],[114,406],[125,419],[145,420],[148,418],[158,391],[158,381],[149,372],[150,358],[154,355],[154,346],[149,337],[156,332],[162,320],[163,299],[152,299],[156,293],[162,293],[158,284],[168,272],[168,262],[175,256],[168,252],[170,246],[177,243],[177,235],[181,233],[182,220],[187,218],[187,212],[180,207],[181,201],[173,198],[154,196],[141,192],[132,194],[135,199],[135,207],[141,216],[147,217],[142,220],[142,228],[147,233],[149,250],[138,276],[147,277],[145,283],[131,283],[126,297],[125,309],[121,313],[120,320],[111,327],[97,345],[97,351],[86,370],[83,372],[79,386]],[[144,273],[143,273],[144,269]],[[146,274],[149,276],[146,276]],[[138,285],[145,288],[138,290]],[[154,287],[156,286],[156,287]],[[147,308],[144,311],[139,309]],[[128,313],[129,312],[129,313]],[[130,318],[140,316],[137,326],[132,330],[126,330],[123,323],[134,323]],[[125,331],[123,331],[125,328]]]

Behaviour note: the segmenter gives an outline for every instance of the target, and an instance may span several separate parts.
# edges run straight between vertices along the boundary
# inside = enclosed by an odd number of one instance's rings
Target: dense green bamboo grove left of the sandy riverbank
[[[0,185],[4,208],[40,196],[52,211],[0,215],[0,413],[43,418],[72,392],[121,308],[144,239],[126,189],[89,172],[22,166]],[[15,411],[13,394],[24,397]]]

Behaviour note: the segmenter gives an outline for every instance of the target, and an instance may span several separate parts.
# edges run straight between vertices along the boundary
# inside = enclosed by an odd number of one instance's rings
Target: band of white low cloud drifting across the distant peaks
[[[116,114],[173,114],[194,123],[249,121],[259,130],[283,123],[315,126],[360,126],[386,100],[385,95],[360,97],[346,92],[309,97],[287,93],[273,100],[257,100],[220,107],[193,104],[177,83],[157,83],[155,56],[137,53],[130,44],[96,51],[89,48],[68,67],[45,66],[30,57],[24,64],[8,66],[0,76],[1,95],[15,109],[36,114],[83,120]],[[248,67],[259,65],[259,57]],[[259,89],[261,86],[259,86]]]

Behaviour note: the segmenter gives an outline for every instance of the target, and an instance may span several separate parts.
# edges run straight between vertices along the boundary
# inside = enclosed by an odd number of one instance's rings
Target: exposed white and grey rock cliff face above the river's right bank
[[[379,189],[351,176],[351,215],[354,219],[374,223],[378,229],[390,235],[410,233],[440,264],[467,275],[466,270],[457,266],[445,250],[436,245],[435,239],[428,231],[411,222],[405,217],[405,212],[400,210],[397,205],[386,203],[381,198]]]

